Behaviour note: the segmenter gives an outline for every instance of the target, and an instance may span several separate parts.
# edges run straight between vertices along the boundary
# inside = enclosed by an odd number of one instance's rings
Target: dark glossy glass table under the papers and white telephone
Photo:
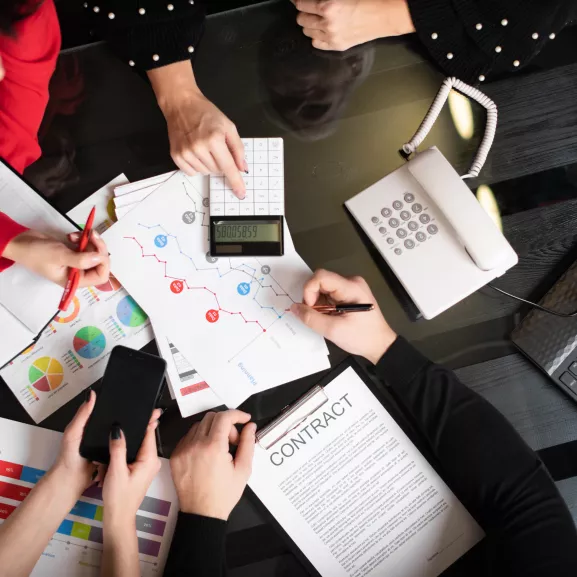
[[[566,30],[531,67],[483,88],[499,107],[497,137],[473,190],[489,186],[519,264],[497,284],[538,299],[577,257],[577,30]],[[495,404],[545,460],[577,507],[577,407],[508,340],[526,308],[482,289],[431,321],[413,321],[347,216],[343,203],[403,162],[398,154],[425,115],[443,74],[415,36],[385,39],[345,54],[315,52],[288,2],[209,17],[195,63],[208,98],[241,136],[285,139],[286,214],[297,250],[312,269],[360,274],[399,333]],[[124,172],[130,180],[174,168],[164,118],[148,82],[104,44],[62,53],[41,132],[42,158],[26,176],[70,210]],[[465,114],[465,117],[463,117]],[[472,134],[463,131],[472,123]],[[437,145],[464,172],[484,129],[472,105],[443,111],[423,147]],[[154,343],[147,347],[155,351]],[[345,354],[330,346],[334,365]],[[266,391],[243,406],[264,421],[306,391],[310,377]],[[82,401],[43,421],[63,430]],[[168,392],[161,419],[169,456],[196,416],[182,419]],[[30,422],[6,386],[0,415]],[[296,558],[250,503],[230,521],[233,577],[303,574]]]

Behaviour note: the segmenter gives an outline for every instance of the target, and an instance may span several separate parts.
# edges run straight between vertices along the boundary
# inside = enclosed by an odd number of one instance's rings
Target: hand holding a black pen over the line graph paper
[[[345,278],[317,270],[305,284],[304,304],[293,304],[291,312],[305,325],[353,355],[377,364],[397,335],[389,327],[365,279]],[[311,307],[316,304],[367,303],[369,312],[326,315]]]

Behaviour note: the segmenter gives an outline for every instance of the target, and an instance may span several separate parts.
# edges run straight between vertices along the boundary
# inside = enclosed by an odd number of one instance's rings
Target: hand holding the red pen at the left
[[[74,232],[68,235],[68,239],[77,244],[81,234]],[[65,286],[68,281],[69,268],[78,269],[79,287],[105,283],[110,274],[106,245],[94,230],[85,252],[76,252],[55,238],[27,230],[8,243],[2,256],[61,286]]]

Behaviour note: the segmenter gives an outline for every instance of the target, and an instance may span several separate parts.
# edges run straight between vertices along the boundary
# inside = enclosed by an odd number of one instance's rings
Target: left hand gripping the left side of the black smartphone
[[[83,403],[76,415],[70,421],[60,445],[60,453],[50,473],[61,476],[67,486],[75,491],[75,500],[78,498],[90,485],[97,483],[100,479],[97,474],[96,465],[87,461],[80,455],[80,443],[84,434],[84,427],[88,422],[94,403],[96,402],[96,393],[90,391],[88,400]]]

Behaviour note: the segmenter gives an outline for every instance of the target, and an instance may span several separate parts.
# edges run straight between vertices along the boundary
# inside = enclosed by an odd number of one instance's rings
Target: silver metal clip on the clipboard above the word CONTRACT
[[[291,431],[302,425],[308,417],[320,409],[329,398],[323,387],[314,386],[298,401],[285,407],[281,414],[256,434],[257,443],[265,450],[270,449]]]

